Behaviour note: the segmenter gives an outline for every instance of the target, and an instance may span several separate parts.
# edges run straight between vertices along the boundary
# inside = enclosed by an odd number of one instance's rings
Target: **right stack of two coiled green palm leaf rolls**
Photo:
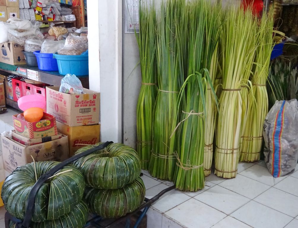
[[[97,145],[83,147],[75,155]],[[77,160],[74,165],[89,185],[84,198],[91,213],[117,218],[136,210],[144,201],[145,185],[139,177],[141,163],[133,148],[112,143]]]

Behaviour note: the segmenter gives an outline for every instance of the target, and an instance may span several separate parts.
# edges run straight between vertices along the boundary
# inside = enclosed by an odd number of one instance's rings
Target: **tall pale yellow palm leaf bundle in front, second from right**
[[[215,174],[233,178],[237,175],[242,125],[241,85],[253,46],[248,45],[255,38],[254,17],[238,6],[230,6],[223,14],[221,32],[222,92],[215,148]]]

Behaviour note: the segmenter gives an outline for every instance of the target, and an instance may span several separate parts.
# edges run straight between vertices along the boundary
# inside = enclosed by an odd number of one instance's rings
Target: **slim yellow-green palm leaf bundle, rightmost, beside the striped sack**
[[[269,74],[270,57],[273,48],[273,14],[263,14],[258,27],[258,42],[255,66],[252,75],[252,90],[249,92],[248,118],[243,134],[240,161],[260,160],[263,143],[263,124],[268,113],[266,81]]]

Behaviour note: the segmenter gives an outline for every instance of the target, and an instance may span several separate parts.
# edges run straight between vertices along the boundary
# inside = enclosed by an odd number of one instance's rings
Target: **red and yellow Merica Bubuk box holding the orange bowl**
[[[15,131],[27,138],[35,139],[58,135],[56,119],[50,114],[44,112],[42,120],[32,123],[19,119],[17,115],[13,115]]]

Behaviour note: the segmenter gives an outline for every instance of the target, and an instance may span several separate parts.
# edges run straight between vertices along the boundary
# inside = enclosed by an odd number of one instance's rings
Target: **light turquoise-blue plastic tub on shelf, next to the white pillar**
[[[53,58],[57,59],[60,75],[67,75],[67,74],[72,74],[76,76],[89,75],[88,55],[54,54]]]

